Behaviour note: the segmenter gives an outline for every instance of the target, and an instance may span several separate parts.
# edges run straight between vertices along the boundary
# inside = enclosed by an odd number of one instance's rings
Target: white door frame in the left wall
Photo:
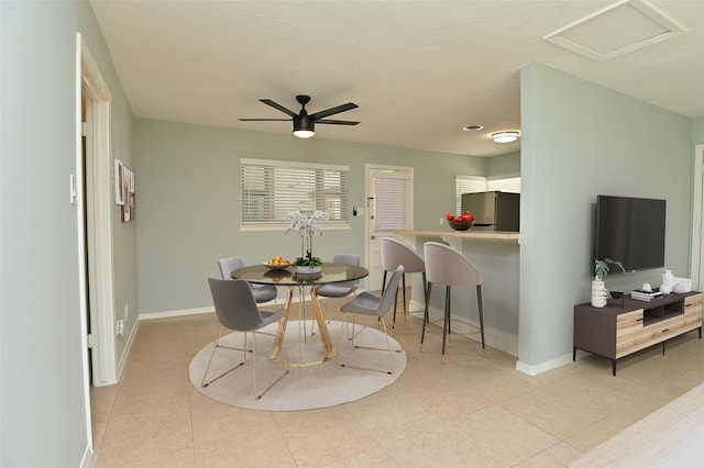
[[[88,223],[88,238],[84,230],[79,231],[81,255],[88,257],[88,271],[79,275],[80,287],[90,294],[86,299],[90,311],[90,325],[94,333],[87,336],[85,323],[85,346],[92,348],[92,385],[96,387],[117,382],[117,360],[114,339],[114,283],[112,257],[112,218],[111,218],[111,155],[110,155],[110,91],[102,79],[88,45],[78,33],[77,65],[79,67],[77,100],[80,105],[81,93],[87,98],[87,142],[86,142],[86,193],[91,198],[90,210],[81,199],[81,213]],[[79,120],[80,121],[80,120]],[[78,126],[77,138],[82,135]],[[80,145],[79,145],[80,148]],[[77,165],[82,164],[82,152],[77,154]],[[82,177],[79,183],[82,183]],[[82,190],[81,190],[82,191]],[[84,222],[84,220],[80,220]],[[81,258],[86,265],[86,258]],[[87,313],[84,319],[87,322]],[[88,369],[86,368],[86,371]]]

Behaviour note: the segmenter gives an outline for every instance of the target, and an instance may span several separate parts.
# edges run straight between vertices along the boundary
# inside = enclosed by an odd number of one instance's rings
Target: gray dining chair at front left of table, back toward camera
[[[285,371],[270,385],[262,393],[258,392],[257,378],[256,378],[256,335],[264,332],[260,332],[264,326],[274,323],[284,317],[286,309],[279,309],[276,312],[264,312],[258,309],[254,294],[250,285],[242,279],[216,279],[208,278],[210,285],[210,293],[212,294],[212,302],[216,308],[216,315],[218,322],[220,322],[220,330],[216,336],[216,341],[212,344],[212,353],[210,359],[206,366],[206,371],[202,375],[200,382],[201,387],[208,387],[210,383],[220,379],[221,377],[230,374],[234,369],[243,366],[246,361],[246,357],[250,354],[246,349],[246,334],[252,333],[252,370],[254,377],[254,399],[258,400],[264,393],[266,393],[272,387],[274,387],[282,378],[288,374],[288,366]],[[244,348],[233,348],[231,346],[220,344],[220,338],[226,330],[244,333]],[[271,333],[264,333],[274,336]],[[212,358],[219,348],[227,348],[231,350],[242,352],[242,361],[237,366],[226,370],[219,376],[208,380],[208,371],[212,364]],[[284,346],[285,348],[285,346]],[[288,361],[288,359],[286,359]]]

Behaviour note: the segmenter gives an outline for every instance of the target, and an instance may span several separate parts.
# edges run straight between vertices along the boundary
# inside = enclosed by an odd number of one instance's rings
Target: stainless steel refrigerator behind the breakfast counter
[[[462,211],[474,214],[473,230],[519,232],[520,193],[462,193]]]

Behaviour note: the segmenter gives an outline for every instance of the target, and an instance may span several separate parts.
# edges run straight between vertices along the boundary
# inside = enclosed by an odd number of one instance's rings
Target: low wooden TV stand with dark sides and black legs
[[[702,339],[702,293],[666,294],[652,301],[624,297],[622,304],[593,308],[590,303],[574,307],[572,360],[583,349],[616,361],[630,354],[698,328]]]

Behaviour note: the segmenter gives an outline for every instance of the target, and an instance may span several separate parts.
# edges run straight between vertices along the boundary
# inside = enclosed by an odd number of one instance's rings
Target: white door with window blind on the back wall
[[[397,236],[394,230],[414,226],[414,169],[366,165],[367,289],[382,289],[381,238]]]

